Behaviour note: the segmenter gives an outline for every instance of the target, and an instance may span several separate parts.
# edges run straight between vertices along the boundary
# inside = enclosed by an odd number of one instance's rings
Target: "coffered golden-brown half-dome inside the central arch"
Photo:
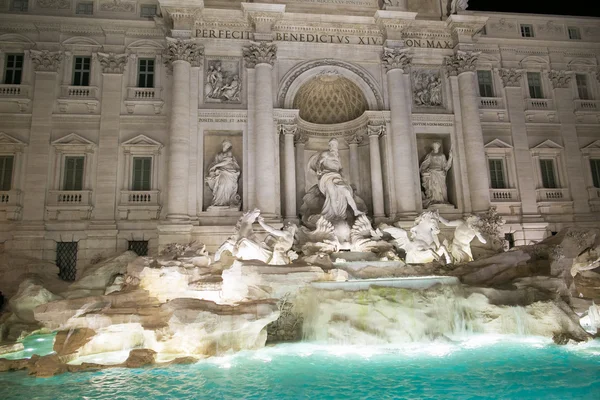
[[[350,79],[337,73],[320,74],[300,87],[294,97],[300,118],[315,124],[339,124],[360,117],[367,99]]]

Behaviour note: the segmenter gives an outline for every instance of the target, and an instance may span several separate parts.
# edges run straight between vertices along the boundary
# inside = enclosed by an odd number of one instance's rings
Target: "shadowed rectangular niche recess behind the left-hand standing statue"
[[[231,152],[237,163],[242,168],[241,174],[238,179],[238,194],[240,198],[243,198],[243,180],[245,171],[244,166],[244,152],[243,152],[243,139],[241,131],[205,131],[204,132],[204,175],[208,174],[210,165],[215,161],[215,155],[223,150],[223,141],[228,140],[231,142]],[[202,198],[202,209],[206,210],[210,207],[213,200],[213,192],[202,177],[202,184],[204,185],[203,198]],[[243,207],[243,205],[242,205]]]

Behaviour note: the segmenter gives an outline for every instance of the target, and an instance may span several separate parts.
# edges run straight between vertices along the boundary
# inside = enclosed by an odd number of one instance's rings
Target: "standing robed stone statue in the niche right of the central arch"
[[[433,142],[433,149],[425,156],[419,168],[421,172],[421,184],[425,190],[423,207],[432,204],[448,204],[448,187],[446,185],[446,174],[452,166],[452,149],[448,158],[442,152],[442,143]]]

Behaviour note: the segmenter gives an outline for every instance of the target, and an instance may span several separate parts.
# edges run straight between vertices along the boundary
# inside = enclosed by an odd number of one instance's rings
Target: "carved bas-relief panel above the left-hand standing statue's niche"
[[[241,59],[208,58],[204,63],[204,101],[239,104],[242,99]]]

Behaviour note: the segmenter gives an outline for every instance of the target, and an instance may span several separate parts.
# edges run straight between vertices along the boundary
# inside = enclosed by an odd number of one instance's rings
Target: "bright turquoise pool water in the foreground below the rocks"
[[[478,337],[459,344],[278,345],[193,365],[32,378],[2,399],[600,399],[600,341]]]

